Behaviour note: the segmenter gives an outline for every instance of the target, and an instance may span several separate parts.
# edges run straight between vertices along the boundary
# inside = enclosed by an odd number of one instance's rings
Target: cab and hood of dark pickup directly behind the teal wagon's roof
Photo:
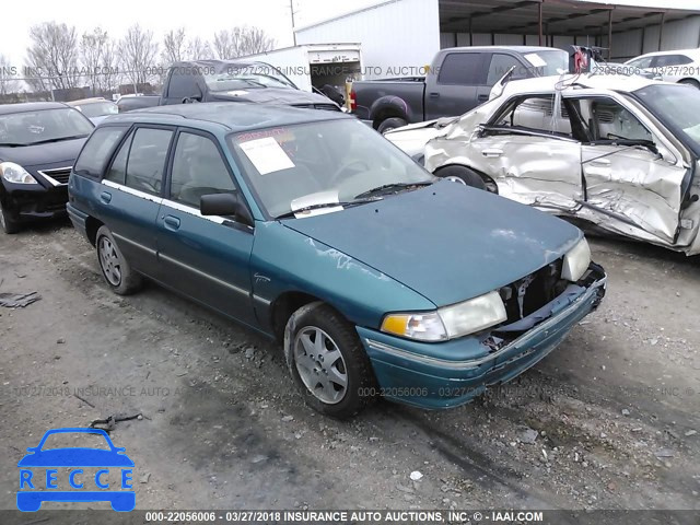
[[[173,63],[167,70],[160,105],[192,102],[246,102],[340,110],[330,98],[300,90],[269,63],[237,60]]]

